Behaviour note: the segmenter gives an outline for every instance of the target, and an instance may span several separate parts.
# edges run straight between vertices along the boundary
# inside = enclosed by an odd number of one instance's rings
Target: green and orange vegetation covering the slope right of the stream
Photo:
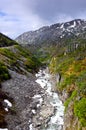
[[[64,41],[64,49],[61,46],[59,52],[55,53],[49,68],[51,73],[61,74],[62,81],[57,84],[57,89],[60,93],[65,90],[68,95],[64,103],[65,112],[73,102],[74,116],[78,117],[81,127],[86,127],[86,40],[76,40],[77,48],[75,39]]]

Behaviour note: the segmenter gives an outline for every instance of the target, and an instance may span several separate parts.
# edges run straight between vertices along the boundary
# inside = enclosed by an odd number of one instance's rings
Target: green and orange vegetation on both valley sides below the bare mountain
[[[73,116],[78,118],[81,127],[86,127],[86,39],[62,38],[55,44],[54,41],[43,41],[35,51],[33,55],[29,49],[0,34],[0,82],[10,78],[8,68],[26,74],[27,71],[36,72],[40,65],[49,65],[51,73],[61,75],[58,92],[65,91],[68,95],[64,103],[65,112],[73,102]],[[0,93],[3,92],[0,90]],[[2,100],[1,96],[0,125],[5,123],[7,114],[3,110]],[[12,111],[15,113],[15,108]]]

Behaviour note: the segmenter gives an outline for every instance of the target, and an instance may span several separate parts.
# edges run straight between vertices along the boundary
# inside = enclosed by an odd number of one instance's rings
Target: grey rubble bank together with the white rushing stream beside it
[[[3,91],[13,98],[6,116],[8,130],[62,130],[64,107],[52,89],[50,74],[40,70],[36,77],[14,71],[10,75],[2,83]]]

